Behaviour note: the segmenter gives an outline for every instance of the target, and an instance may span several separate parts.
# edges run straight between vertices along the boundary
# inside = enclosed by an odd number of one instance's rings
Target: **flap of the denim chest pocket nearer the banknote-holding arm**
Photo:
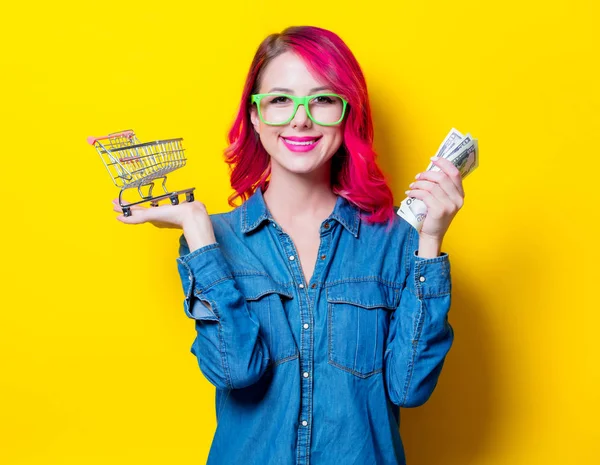
[[[346,303],[364,308],[384,307],[395,309],[400,292],[379,281],[345,281],[330,284],[326,288],[327,302]]]

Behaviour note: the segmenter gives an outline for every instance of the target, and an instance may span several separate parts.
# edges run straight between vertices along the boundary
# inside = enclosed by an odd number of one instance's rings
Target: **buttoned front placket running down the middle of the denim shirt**
[[[302,289],[297,292],[298,298],[301,300],[300,321],[302,330],[300,331],[300,370],[301,377],[301,405],[298,416],[299,427],[297,436],[297,465],[310,465],[310,440],[312,433],[312,396],[313,383],[311,373],[314,367],[314,317],[313,306],[316,302],[316,293],[319,280],[323,269],[326,265],[329,247],[331,245],[331,237],[333,223],[326,220],[320,230],[320,243],[317,252],[317,260],[310,283],[304,283],[304,273],[302,272],[302,264],[298,258],[298,252],[292,238],[285,233],[281,227],[271,219],[271,224],[278,232],[278,238],[285,254],[287,255],[288,269],[291,272],[294,283]]]

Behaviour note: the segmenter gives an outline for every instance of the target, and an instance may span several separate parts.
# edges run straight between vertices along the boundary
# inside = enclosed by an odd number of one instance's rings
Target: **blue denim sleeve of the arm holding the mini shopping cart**
[[[268,348],[219,243],[190,252],[182,234],[177,269],[185,314],[196,325],[191,352],[202,373],[221,389],[242,388],[258,381],[269,362]]]

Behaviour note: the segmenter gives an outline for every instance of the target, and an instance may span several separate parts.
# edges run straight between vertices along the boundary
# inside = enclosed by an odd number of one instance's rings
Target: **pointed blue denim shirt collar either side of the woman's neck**
[[[257,187],[254,193],[242,204],[242,232],[249,233],[258,228],[264,221],[273,220],[265,203],[263,192]],[[346,198],[338,195],[333,212],[327,219],[339,221],[354,237],[358,237],[360,226],[360,209]]]

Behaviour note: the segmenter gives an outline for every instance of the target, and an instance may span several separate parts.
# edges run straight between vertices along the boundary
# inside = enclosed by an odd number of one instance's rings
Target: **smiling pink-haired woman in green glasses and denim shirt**
[[[208,463],[404,464],[398,407],[430,397],[453,341],[441,244],[458,170],[441,159],[411,184],[420,233],[395,214],[359,64],[316,27],[260,44],[229,141],[240,206],[118,217],[183,229],[191,352],[216,386]]]

